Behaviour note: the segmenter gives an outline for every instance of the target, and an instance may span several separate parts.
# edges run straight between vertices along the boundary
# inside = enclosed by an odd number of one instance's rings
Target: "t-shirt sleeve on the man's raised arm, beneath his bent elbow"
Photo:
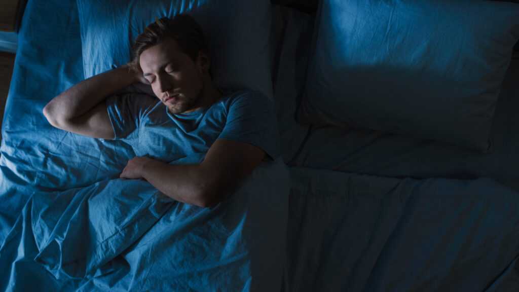
[[[106,110],[114,130],[116,140],[138,138],[138,129],[146,110],[153,100],[147,95],[124,94],[106,99]]]

